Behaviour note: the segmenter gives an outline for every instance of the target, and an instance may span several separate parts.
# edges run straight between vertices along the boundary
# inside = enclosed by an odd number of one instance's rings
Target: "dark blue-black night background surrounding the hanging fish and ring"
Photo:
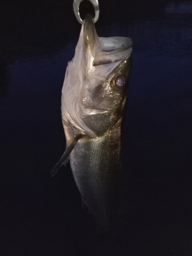
[[[191,255],[192,2],[99,1],[98,35],[134,42],[122,133],[128,210],[108,236],[82,211],[70,164],[50,176],[65,150],[61,88],[80,32],[72,3],[0,3],[0,254]]]

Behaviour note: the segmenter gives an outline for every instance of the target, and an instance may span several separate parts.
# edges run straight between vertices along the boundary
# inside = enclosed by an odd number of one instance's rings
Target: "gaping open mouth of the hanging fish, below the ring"
[[[92,66],[113,63],[129,58],[133,42],[128,37],[98,37],[93,16],[87,14],[83,20],[83,37],[86,52],[92,55]]]

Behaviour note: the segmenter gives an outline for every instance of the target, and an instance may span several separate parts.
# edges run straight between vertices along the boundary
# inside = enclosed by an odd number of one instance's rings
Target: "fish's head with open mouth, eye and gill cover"
[[[68,63],[61,107],[81,132],[101,136],[122,115],[131,54],[130,38],[99,37],[93,17],[86,16],[75,56]]]

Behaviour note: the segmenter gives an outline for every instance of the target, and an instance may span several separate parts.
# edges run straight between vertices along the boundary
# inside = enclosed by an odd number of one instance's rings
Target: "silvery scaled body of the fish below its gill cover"
[[[108,229],[120,194],[120,120],[102,137],[80,139],[70,162],[83,203],[92,211],[98,229]]]

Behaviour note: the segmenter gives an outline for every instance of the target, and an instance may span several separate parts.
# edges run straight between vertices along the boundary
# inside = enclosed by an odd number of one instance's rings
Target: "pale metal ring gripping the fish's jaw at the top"
[[[73,10],[75,13],[75,17],[77,18],[77,20],[80,24],[82,24],[82,19],[79,14],[79,5],[82,1],[83,0],[74,0],[73,1]],[[92,5],[94,7],[94,11],[95,11],[94,23],[96,23],[99,18],[99,3],[98,3],[98,0],[89,0],[89,1],[92,3]]]

